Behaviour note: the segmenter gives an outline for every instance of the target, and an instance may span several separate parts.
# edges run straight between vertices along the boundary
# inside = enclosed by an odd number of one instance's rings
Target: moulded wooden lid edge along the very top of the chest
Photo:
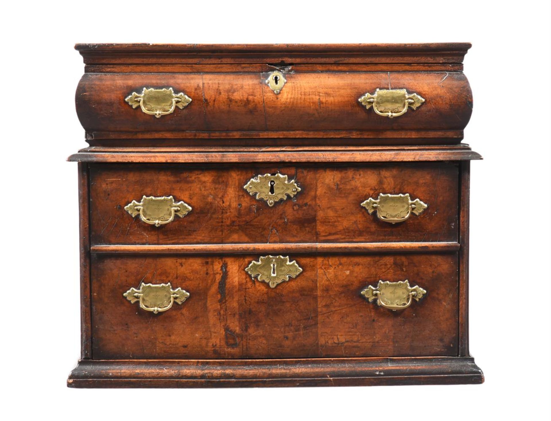
[[[408,44],[77,44],[84,63],[112,64],[461,64],[467,42]]]

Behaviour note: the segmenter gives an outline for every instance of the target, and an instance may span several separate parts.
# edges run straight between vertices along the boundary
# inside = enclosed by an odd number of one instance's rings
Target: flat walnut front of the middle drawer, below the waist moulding
[[[260,188],[244,188],[251,178],[278,172],[288,176],[287,183],[295,180],[300,190],[292,197],[270,204],[256,199]],[[376,208],[361,206],[381,194],[409,194],[410,201],[419,199],[428,207],[418,207],[419,215],[412,208],[407,220],[391,223],[378,217]],[[143,196],[172,196],[175,204],[183,201],[181,206],[191,210],[155,226],[136,210]],[[455,163],[90,166],[92,244],[453,242],[457,204]]]

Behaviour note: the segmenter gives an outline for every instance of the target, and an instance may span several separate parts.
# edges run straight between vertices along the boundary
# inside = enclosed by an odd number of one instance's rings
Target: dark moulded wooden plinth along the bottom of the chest
[[[68,387],[283,387],[480,384],[472,357],[80,360]]]

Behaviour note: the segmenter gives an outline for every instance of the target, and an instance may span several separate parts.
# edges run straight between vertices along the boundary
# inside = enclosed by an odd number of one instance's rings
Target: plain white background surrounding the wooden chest
[[[2,391],[15,419],[550,418],[549,2],[23,2],[2,6]],[[275,10],[275,12],[274,12]],[[143,24],[143,26],[142,26]],[[469,41],[471,352],[478,386],[74,390],[75,42]],[[7,419],[7,418],[4,418]]]

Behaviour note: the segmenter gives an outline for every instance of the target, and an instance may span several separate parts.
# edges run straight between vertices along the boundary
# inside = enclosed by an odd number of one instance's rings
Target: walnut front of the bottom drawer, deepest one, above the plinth
[[[456,253],[289,258],[302,272],[271,288],[245,271],[258,255],[93,255],[92,358],[458,354]],[[361,294],[379,280],[406,279],[426,290],[408,308],[393,311]],[[141,283],[163,282],[190,296],[157,314],[123,296]]]

